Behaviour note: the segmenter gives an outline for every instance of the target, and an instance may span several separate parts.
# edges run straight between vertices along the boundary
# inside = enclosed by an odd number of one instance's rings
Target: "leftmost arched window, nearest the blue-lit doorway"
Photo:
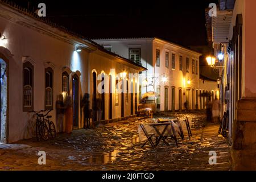
[[[34,67],[30,62],[23,63],[23,111],[33,110]]]

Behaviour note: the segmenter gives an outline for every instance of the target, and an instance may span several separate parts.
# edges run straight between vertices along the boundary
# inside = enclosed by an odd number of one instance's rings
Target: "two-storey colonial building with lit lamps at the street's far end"
[[[189,109],[204,109],[200,93],[213,88],[200,88],[199,57],[201,53],[159,38],[94,39],[114,53],[147,68],[142,72],[141,94],[160,93],[160,110],[182,110],[184,102]],[[201,84],[202,85],[202,84]],[[203,84],[204,85],[204,84]],[[208,92],[209,92],[208,91]],[[203,101],[201,101],[203,103]]]

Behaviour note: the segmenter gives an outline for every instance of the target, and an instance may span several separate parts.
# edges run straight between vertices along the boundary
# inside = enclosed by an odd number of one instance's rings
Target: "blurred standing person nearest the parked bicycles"
[[[63,95],[59,94],[56,101],[56,132],[63,133],[64,103]]]

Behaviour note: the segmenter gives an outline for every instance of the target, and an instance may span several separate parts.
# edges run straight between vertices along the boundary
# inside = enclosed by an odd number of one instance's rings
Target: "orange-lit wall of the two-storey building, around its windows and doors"
[[[172,110],[172,87],[175,88],[175,110],[179,109],[179,89],[182,89],[182,108],[184,109],[184,102],[186,101],[187,89],[190,89],[190,108],[192,109],[192,90],[199,89],[199,53],[189,51],[182,47],[175,46],[173,44],[164,42],[162,40],[156,39],[153,42],[153,52],[152,55],[154,72],[159,74],[159,85],[160,85],[160,110],[164,110],[164,87],[168,86],[168,110]],[[160,67],[156,67],[156,49],[160,50]],[[169,52],[169,68],[166,68],[166,52]],[[172,69],[172,53],[175,54],[175,69]],[[179,56],[183,56],[183,71],[179,69]],[[186,57],[189,58],[189,72],[186,71]],[[198,61],[197,70],[198,73],[192,73],[192,59]],[[162,78],[167,77],[167,81],[163,82]],[[162,75],[162,76],[160,76]],[[191,82],[188,84],[188,80]],[[195,96],[194,96],[195,98]],[[195,102],[194,102],[195,104]]]

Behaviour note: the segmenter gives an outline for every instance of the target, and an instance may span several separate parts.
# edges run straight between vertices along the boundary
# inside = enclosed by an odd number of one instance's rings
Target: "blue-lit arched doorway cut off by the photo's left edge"
[[[0,143],[7,143],[7,64],[3,59],[0,59],[1,71],[1,86],[0,86]]]

